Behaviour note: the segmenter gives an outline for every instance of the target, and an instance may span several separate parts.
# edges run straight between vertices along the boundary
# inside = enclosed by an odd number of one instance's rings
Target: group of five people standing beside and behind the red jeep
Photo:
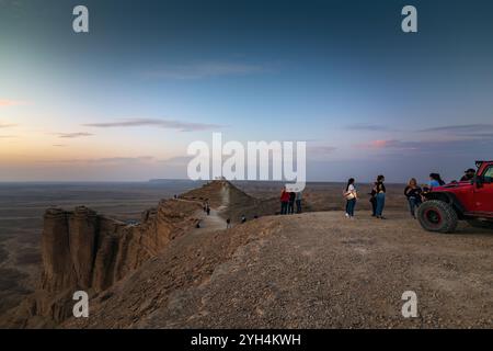
[[[475,176],[475,170],[470,168],[465,171],[465,176],[460,179],[460,181],[472,181]],[[386,185],[385,185],[385,177],[378,176],[377,181],[374,183],[371,188],[370,203],[371,203],[371,216],[376,218],[383,219],[383,208],[386,204]],[[455,182],[455,181],[452,181]],[[439,173],[431,173],[429,181],[427,185],[420,186],[415,178],[411,178],[408,182],[408,185],[404,189],[404,195],[408,200],[409,210],[411,216],[416,218],[416,208],[423,203],[424,194],[434,188],[445,185],[445,181],[442,179]],[[347,181],[346,188],[343,192],[343,195],[346,200],[346,208],[345,216],[347,218],[354,218],[354,210],[356,206],[356,201],[358,199],[358,194],[355,186],[355,179],[351,178]]]

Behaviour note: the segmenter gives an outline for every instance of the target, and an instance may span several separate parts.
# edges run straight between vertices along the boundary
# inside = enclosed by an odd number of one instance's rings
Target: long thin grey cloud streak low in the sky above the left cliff
[[[142,127],[142,126],[156,126],[167,129],[177,129],[180,132],[196,132],[222,128],[223,126],[217,124],[206,124],[206,123],[188,123],[179,122],[170,120],[153,120],[153,118],[134,118],[125,120],[118,122],[108,123],[89,123],[84,124],[87,127],[98,127],[98,128],[115,128],[115,127]]]

